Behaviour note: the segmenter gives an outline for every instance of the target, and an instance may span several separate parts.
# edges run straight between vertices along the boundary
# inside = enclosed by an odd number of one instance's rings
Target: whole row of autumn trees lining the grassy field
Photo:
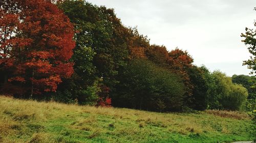
[[[255,108],[255,77],[211,73],[187,51],[151,45],[113,9],[74,0],[0,5],[2,94],[153,111]]]

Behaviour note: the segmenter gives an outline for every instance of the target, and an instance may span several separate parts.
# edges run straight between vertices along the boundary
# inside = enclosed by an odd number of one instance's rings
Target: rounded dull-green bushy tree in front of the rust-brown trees
[[[154,111],[177,111],[183,105],[184,84],[178,75],[154,63],[134,59],[117,85],[113,105]]]

